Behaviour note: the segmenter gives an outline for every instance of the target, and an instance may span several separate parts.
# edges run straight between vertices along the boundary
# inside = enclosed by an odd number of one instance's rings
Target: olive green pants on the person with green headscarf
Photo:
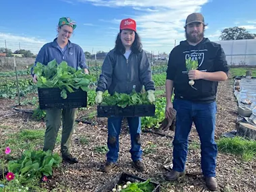
[[[46,131],[44,134],[44,151],[55,148],[55,143],[61,127],[62,115],[62,136],[61,136],[61,154],[70,154],[71,152],[71,137],[74,132],[75,119],[77,108],[51,108],[46,110]]]

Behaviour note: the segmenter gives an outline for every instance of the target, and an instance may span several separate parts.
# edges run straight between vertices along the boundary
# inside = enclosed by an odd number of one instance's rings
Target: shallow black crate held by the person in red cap
[[[154,117],[154,104],[141,104],[134,106],[107,106],[99,105],[97,107],[97,117]]]

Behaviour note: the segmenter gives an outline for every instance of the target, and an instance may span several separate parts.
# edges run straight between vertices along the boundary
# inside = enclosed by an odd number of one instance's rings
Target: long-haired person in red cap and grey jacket
[[[110,95],[117,93],[130,94],[133,90],[141,92],[145,88],[148,100],[155,101],[154,82],[150,62],[143,51],[139,35],[136,30],[136,22],[131,18],[121,21],[120,31],[115,41],[115,48],[104,59],[102,73],[96,88],[97,104],[102,102],[102,94],[108,90]],[[108,153],[106,163],[101,170],[108,172],[115,168],[119,153],[119,134],[123,117],[108,118]],[[141,160],[141,119],[140,117],[128,117],[129,131],[131,135],[131,159],[133,166],[139,171],[145,170]]]

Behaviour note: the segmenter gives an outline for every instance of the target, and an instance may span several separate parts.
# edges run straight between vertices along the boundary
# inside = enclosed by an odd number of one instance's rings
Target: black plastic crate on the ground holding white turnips
[[[135,183],[135,182],[147,181],[147,179],[143,179],[143,178],[137,177],[137,176],[135,176],[133,174],[128,174],[126,172],[122,172],[117,177],[112,179],[109,183],[106,183],[106,185],[104,185],[103,187],[100,187],[100,189],[98,189],[97,192],[109,192],[109,191],[112,191],[112,189],[116,185],[120,185],[120,184],[123,185],[127,181],[131,181],[131,183]],[[156,182],[153,182],[153,181],[150,181],[150,183],[152,183],[154,185],[154,187],[155,187],[152,192],[160,192],[160,185],[159,185],[159,183],[156,183]]]

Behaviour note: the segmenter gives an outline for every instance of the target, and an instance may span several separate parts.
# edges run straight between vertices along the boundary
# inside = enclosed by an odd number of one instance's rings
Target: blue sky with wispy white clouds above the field
[[[246,2],[246,3],[245,3]],[[187,15],[200,12],[205,37],[218,41],[221,30],[243,26],[256,33],[255,0],[0,0],[0,47],[37,54],[57,36],[59,18],[77,22],[70,40],[84,51],[110,51],[122,19],[132,18],[143,49],[170,53],[185,40]]]

